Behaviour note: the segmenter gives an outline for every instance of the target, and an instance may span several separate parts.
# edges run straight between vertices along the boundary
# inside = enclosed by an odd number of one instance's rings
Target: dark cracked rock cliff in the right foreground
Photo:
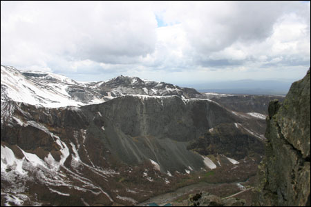
[[[310,68],[281,104],[271,101],[259,166],[260,206],[310,206]]]

